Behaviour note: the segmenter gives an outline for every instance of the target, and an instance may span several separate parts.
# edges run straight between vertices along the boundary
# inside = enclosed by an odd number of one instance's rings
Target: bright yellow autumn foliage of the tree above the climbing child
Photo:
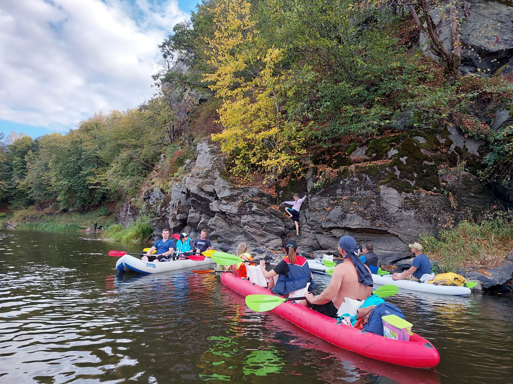
[[[245,0],[221,0],[214,9],[216,30],[208,41],[204,75],[216,97],[224,130],[213,134],[224,152],[235,153],[236,174],[251,170],[279,175],[297,168],[305,153],[298,125],[281,119],[285,50],[266,47]]]

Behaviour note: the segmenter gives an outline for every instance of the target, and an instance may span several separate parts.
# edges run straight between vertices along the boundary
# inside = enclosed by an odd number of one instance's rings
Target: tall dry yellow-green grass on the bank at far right
[[[513,250],[513,222],[505,215],[479,223],[464,220],[455,228],[441,230],[439,239],[422,234],[420,242],[443,272],[469,265],[487,269],[502,264]]]

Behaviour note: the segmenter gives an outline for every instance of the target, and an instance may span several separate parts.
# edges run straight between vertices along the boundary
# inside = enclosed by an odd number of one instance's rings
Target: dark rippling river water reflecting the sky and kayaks
[[[389,297],[440,352],[408,369],[252,312],[212,274],[119,274],[107,252],[141,246],[80,236],[0,230],[0,383],[513,382],[510,295]]]

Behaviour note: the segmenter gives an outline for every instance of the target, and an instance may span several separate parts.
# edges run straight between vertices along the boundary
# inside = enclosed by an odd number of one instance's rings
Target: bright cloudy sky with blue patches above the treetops
[[[67,129],[151,97],[177,0],[0,1],[0,119]]]

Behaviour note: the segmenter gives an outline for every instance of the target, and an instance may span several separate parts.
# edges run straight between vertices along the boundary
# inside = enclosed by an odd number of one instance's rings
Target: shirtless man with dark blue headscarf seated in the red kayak
[[[365,300],[370,296],[372,287],[372,275],[368,267],[358,259],[357,243],[350,236],[343,236],[339,241],[339,254],[344,262],[333,270],[333,276],[328,287],[319,295],[306,293],[306,305],[329,317],[336,317],[337,312],[344,302],[344,297],[355,300]]]

